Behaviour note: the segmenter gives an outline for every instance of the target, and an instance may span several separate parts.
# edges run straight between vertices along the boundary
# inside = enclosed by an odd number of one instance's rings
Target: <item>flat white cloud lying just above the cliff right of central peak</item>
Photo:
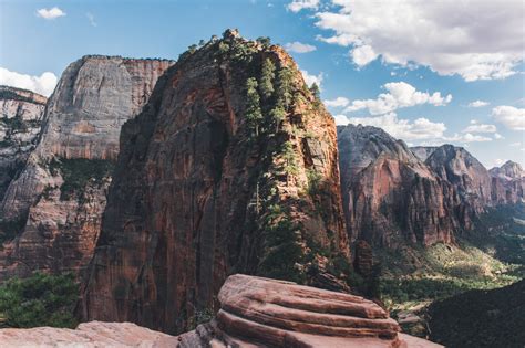
[[[395,113],[375,117],[350,117],[348,122],[352,125],[374,126],[383,128],[394,138],[406,141],[443,139],[446,127],[443,123],[433,123],[428,118],[418,118],[413,122],[399,119]]]

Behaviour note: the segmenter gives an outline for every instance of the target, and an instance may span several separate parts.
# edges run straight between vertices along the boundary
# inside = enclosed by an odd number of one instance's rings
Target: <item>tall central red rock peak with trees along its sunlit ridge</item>
[[[326,283],[348,260],[336,126],[280,48],[186,52],[121,146],[85,319],[181,331],[234,272]]]

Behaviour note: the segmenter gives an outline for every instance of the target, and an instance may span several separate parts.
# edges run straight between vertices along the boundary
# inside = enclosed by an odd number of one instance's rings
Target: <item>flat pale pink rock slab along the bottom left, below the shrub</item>
[[[31,329],[0,329],[0,346],[21,347],[177,347],[178,339],[131,323],[91,321],[74,330],[54,327]]]

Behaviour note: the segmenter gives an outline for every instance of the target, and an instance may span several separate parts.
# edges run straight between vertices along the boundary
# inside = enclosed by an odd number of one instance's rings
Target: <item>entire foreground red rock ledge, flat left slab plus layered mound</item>
[[[403,335],[395,320],[359,296],[236,274],[218,294],[216,317],[178,337],[130,323],[0,330],[2,347],[405,347],[440,345]]]

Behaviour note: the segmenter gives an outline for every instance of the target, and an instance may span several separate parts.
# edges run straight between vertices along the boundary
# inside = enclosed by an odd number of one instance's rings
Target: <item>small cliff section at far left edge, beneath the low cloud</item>
[[[0,86],[0,201],[34,149],[45,103],[37,93]]]

